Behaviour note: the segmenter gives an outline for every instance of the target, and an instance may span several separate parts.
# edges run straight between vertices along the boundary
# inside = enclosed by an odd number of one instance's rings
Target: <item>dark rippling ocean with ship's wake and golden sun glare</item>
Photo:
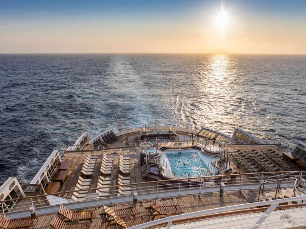
[[[0,54],[0,184],[53,149],[156,124],[306,141],[306,56]]]

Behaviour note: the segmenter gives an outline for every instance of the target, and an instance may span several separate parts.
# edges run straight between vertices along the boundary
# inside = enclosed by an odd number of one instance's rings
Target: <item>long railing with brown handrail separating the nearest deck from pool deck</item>
[[[282,172],[286,174],[287,172]],[[206,176],[206,177],[192,177],[192,178],[177,178],[172,180],[164,180],[164,181],[151,181],[151,182],[142,182],[142,183],[131,183],[131,184],[124,184],[121,187],[130,187],[130,194],[118,196],[118,187],[117,186],[110,186],[110,190],[108,196],[106,197],[98,197],[96,196],[93,199],[93,194],[96,193],[97,189],[101,188],[91,188],[91,189],[84,189],[86,191],[85,200],[80,199],[79,201],[71,201],[71,203],[75,204],[75,208],[80,208],[79,205],[86,203],[87,201],[92,200],[105,200],[105,204],[111,203],[114,199],[116,199],[118,203],[126,202],[132,200],[132,194],[134,192],[138,193],[139,198],[143,199],[155,199],[155,198],[167,198],[177,196],[179,194],[199,194],[199,193],[208,193],[208,192],[217,192],[219,191],[219,184],[224,183],[226,189],[229,190],[243,190],[244,187],[246,189],[253,188],[258,189],[260,186],[260,182],[266,178],[267,176],[274,173],[256,173],[253,174],[254,177],[249,177],[250,174],[237,174],[235,178],[231,178],[230,175],[218,175],[218,176]],[[290,179],[290,175],[288,175],[288,179]],[[170,183],[171,182],[171,183]],[[213,182],[213,183],[212,183]],[[207,187],[209,184],[210,187]],[[274,184],[274,187],[277,185],[277,182]],[[293,186],[294,182],[292,183],[284,183],[282,186]],[[71,199],[73,193],[76,191],[66,191],[60,193],[50,193],[44,195],[38,195],[33,197],[24,197],[24,198],[17,198],[16,200],[23,200],[22,203],[19,201],[14,205],[12,211],[21,211],[21,210],[28,210],[30,206],[35,206],[35,208],[39,207],[46,207],[49,206],[50,202],[53,205],[59,205],[62,203],[66,203],[67,201],[63,201],[62,197],[66,199]],[[48,196],[48,197],[47,197]],[[87,197],[88,196],[88,197]],[[44,202],[45,201],[45,202]],[[109,201],[109,202],[107,202]],[[4,201],[0,201],[0,212],[2,212],[2,203]]]

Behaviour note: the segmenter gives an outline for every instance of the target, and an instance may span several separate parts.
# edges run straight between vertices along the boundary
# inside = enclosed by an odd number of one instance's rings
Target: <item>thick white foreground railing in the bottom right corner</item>
[[[214,208],[214,209],[209,209],[209,210],[204,210],[204,211],[199,211],[199,212],[191,212],[191,213],[186,213],[182,215],[177,215],[177,216],[170,216],[166,218],[162,218],[159,220],[154,220],[148,223],[143,223],[137,226],[129,227],[129,229],[144,229],[144,228],[149,228],[149,227],[156,227],[160,225],[167,225],[167,229],[171,228],[172,223],[175,221],[183,221],[186,220],[186,222],[190,221],[192,218],[195,217],[201,217],[201,216],[206,216],[209,214],[213,213],[220,213],[220,212],[229,212],[229,211],[234,211],[234,210],[240,210],[240,209],[246,209],[246,208],[256,208],[260,206],[266,206],[270,205],[268,209],[263,212],[260,216],[258,216],[257,222],[254,224],[252,221],[249,222],[248,225],[244,225],[246,228],[258,228],[260,225],[265,223],[265,220],[273,214],[275,211],[275,208],[282,203],[288,203],[288,202],[294,202],[294,201],[303,201],[306,199],[306,196],[302,197],[292,197],[292,198],[285,198],[285,199],[278,199],[278,200],[272,200],[272,201],[263,201],[263,202],[255,202],[255,203],[249,203],[249,204],[242,204],[242,205],[234,205],[234,206],[228,206],[228,207],[222,207],[222,208]],[[301,217],[305,217],[304,213],[301,213]],[[300,217],[298,217],[300,218]],[[239,216],[235,218],[235,220],[239,220]],[[294,220],[294,218],[286,219],[287,221],[289,220]],[[215,220],[216,222],[209,223],[209,228],[213,228],[212,226],[214,224],[218,224],[219,222]],[[278,222],[280,222],[279,220]],[[281,223],[281,222],[280,222]],[[202,225],[199,225],[200,228],[205,228],[205,224],[203,223]],[[216,228],[216,227],[215,227]]]

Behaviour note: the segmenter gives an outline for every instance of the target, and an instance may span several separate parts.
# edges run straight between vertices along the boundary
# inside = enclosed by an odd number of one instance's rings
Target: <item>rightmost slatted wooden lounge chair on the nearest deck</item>
[[[181,208],[181,205],[163,205],[159,206],[155,204],[154,201],[149,200],[150,207],[146,207],[147,209],[147,216],[151,217],[153,220],[155,216],[164,216],[167,215],[168,212],[171,212],[174,215],[183,214],[184,211]]]

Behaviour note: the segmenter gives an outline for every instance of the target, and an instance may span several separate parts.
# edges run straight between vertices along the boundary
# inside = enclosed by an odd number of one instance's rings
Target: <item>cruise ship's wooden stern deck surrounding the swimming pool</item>
[[[239,130],[239,133],[243,132]],[[185,214],[293,198],[296,196],[295,179],[306,177],[288,148],[253,136],[241,140],[239,134],[240,138],[228,137],[207,128],[196,132],[170,131],[170,127],[169,131],[151,132],[151,137],[148,131],[142,134],[141,128],[131,133],[114,135],[108,131],[103,134],[103,138],[89,140],[88,133],[84,133],[62,154],[54,150],[30,184],[20,185],[16,178],[9,178],[1,188],[5,191],[4,188],[12,190],[13,187],[15,195],[11,191],[10,199],[4,197],[1,201],[4,215],[11,219],[27,217],[30,206],[34,206],[37,217],[33,228],[50,228],[62,204],[71,210],[98,209],[89,228],[106,228],[107,224],[101,224],[99,216],[104,212],[103,205],[113,210],[135,207],[139,215],[148,215],[149,201],[153,200],[160,206],[180,205],[180,214]],[[107,134],[109,142],[105,142]],[[166,134],[170,136],[165,137]],[[94,144],[95,141],[98,144]],[[150,147],[142,148],[142,143]],[[207,172],[199,172],[194,177],[181,177],[173,168],[166,172],[168,167],[160,159],[164,149],[197,150],[199,154],[212,156],[215,161],[211,166],[216,169],[212,171],[207,167]],[[220,168],[220,164],[224,167]],[[127,179],[122,180],[123,177]],[[292,201],[285,202],[290,203]],[[162,217],[165,215],[156,216],[154,220]]]

